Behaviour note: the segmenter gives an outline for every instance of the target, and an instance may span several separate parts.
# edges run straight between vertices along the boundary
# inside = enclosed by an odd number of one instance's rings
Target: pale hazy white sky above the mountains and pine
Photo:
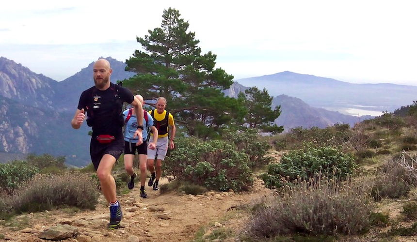
[[[99,57],[131,57],[169,7],[235,79],[291,71],[417,85],[413,0],[5,1],[0,56],[61,81]]]

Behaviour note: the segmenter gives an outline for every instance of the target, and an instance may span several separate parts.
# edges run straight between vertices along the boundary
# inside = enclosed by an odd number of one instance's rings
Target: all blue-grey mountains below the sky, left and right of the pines
[[[125,63],[111,57],[106,59],[113,69],[112,82],[135,75],[125,71]],[[67,163],[75,166],[90,162],[87,135],[90,128],[82,125],[80,130],[73,130],[70,120],[81,92],[94,85],[93,64],[94,61],[74,76],[57,82],[0,57],[0,162],[14,157],[21,159],[22,154],[30,152],[64,155]],[[386,110],[393,111],[412,104],[411,93],[417,91],[417,87],[411,86],[350,84],[284,72],[237,80],[225,94],[236,97],[254,84],[259,89],[266,87],[273,96],[273,106],[281,106],[281,116],[275,122],[286,131],[335,123],[353,126],[372,117],[353,117],[334,110],[348,106],[386,106]]]

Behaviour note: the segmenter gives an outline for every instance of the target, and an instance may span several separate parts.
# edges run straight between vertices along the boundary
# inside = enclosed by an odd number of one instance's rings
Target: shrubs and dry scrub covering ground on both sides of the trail
[[[227,230],[229,241],[396,241],[417,236],[416,127],[414,116],[385,113],[352,128],[299,127],[268,137],[255,130],[229,130],[209,141],[182,137],[163,163],[163,176],[170,182],[160,192],[250,192],[254,179],[261,179],[275,192],[235,208],[246,219]],[[280,160],[270,156],[277,151],[283,153]],[[92,167],[67,169],[63,164],[63,157],[48,154],[1,164],[1,224],[10,224],[17,214],[95,209],[99,186]],[[114,174],[120,195],[129,192],[122,164]],[[223,233],[219,228],[194,241],[215,241]]]

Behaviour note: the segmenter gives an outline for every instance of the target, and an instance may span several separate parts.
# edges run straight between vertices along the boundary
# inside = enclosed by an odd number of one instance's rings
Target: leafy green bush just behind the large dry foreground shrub
[[[353,173],[357,166],[354,161],[353,154],[344,153],[340,147],[314,147],[306,143],[303,149],[289,151],[279,163],[270,164],[261,178],[271,189],[279,188],[285,182],[308,180],[318,173],[343,179]]]

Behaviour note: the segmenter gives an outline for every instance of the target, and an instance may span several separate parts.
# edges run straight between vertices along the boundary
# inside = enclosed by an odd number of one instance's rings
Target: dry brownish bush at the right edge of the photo
[[[399,198],[407,196],[411,185],[416,184],[416,175],[410,156],[394,157],[379,168],[372,187],[372,197],[376,201],[383,198]]]

